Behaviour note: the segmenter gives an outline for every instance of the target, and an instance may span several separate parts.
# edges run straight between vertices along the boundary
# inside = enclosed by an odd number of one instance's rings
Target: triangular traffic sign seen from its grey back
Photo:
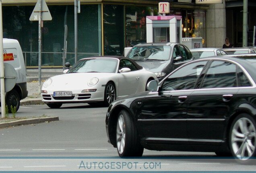
[[[41,0],[42,5],[41,5],[41,13],[42,13],[42,20],[52,20],[51,13],[49,11],[49,8],[47,7],[47,4],[45,0]],[[29,18],[30,21],[38,21],[39,20],[39,0],[37,0],[37,4],[35,4],[35,8]]]

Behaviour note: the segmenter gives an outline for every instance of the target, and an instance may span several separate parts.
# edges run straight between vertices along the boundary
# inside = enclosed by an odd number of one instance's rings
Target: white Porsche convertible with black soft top
[[[103,103],[146,91],[151,80],[157,80],[134,60],[123,56],[100,56],[78,60],[69,70],[43,83],[41,98],[50,108],[63,103]]]

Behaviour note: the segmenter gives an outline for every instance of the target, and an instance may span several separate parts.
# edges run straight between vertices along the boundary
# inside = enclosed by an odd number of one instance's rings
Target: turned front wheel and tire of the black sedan
[[[144,148],[140,145],[136,127],[125,110],[118,114],[116,146],[120,157],[141,157]]]

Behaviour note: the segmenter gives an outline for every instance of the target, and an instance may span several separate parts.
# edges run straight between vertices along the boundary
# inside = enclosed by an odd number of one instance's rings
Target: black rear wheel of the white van
[[[17,91],[12,90],[6,95],[6,105],[8,107],[8,113],[12,113],[11,106],[13,110],[18,111],[20,107],[20,97]]]

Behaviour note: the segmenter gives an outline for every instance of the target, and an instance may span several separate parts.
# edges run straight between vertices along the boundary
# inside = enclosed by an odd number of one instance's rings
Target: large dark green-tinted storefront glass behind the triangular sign
[[[99,5],[81,5],[78,14],[78,59],[100,54]],[[26,66],[38,66],[38,21],[30,21],[34,6],[3,6],[4,38],[19,40]],[[74,64],[74,6],[48,6],[52,20],[43,21],[42,66],[62,66],[64,25],[68,26],[66,62]]]

